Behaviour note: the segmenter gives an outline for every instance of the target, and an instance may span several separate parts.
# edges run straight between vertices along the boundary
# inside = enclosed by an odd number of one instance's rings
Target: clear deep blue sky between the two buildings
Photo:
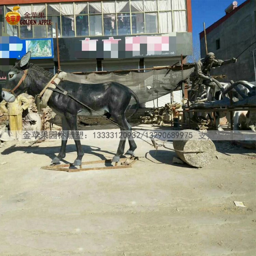
[[[237,0],[238,6],[246,0]],[[191,0],[193,47],[199,44],[199,33],[226,15],[225,9],[233,0]]]

